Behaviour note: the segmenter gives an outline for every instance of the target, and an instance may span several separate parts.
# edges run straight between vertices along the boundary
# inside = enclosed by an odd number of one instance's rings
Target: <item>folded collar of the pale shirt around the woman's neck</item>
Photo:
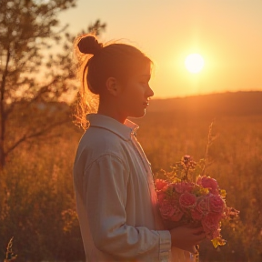
[[[86,119],[89,121],[90,126],[105,128],[124,140],[129,140],[132,134],[136,136],[136,130],[139,128],[139,126],[128,119],[122,124],[112,117],[100,114],[88,114]]]

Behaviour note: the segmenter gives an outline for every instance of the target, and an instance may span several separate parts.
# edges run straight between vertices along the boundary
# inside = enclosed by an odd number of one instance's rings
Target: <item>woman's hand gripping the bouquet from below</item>
[[[196,245],[203,241],[206,236],[203,227],[182,226],[169,230],[173,247],[196,254]]]

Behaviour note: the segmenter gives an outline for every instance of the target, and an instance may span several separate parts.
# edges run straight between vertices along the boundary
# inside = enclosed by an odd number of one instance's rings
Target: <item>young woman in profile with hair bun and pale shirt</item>
[[[74,166],[86,261],[189,261],[203,229],[163,227],[138,126],[127,119],[144,116],[154,95],[152,61],[132,45],[102,45],[94,35],[80,37],[76,48],[84,61],[80,111],[86,116],[94,94],[99,99]]]

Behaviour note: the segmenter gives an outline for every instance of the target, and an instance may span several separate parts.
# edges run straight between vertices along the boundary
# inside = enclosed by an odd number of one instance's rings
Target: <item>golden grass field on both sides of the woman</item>
[[[262,261],[262,106],[255,98],[247,99],[245,111],[241,97],[242,104],[234,99],[229,99],[235,101],[233,106],[225,102],[226,111],[217,110],[216,99],[210,97],[213,107],[207,103],[201,110],[197,107],[200,102],[191,109],[170,107],[182,98],[169,104],[153,100],[146,116],[131,119],[140,126],[137,138],[155,176],[186,154],[195,160],[205,157],[208,128],[213,122],[216,138],[209,147],[213,163],[207,175],[227,190],[227,205],[240,210],[240,217],[236,224],[222,227],[225,247],[214,249],[209,241],[201,244],[201,262]],[[188,98],[184,99],[188,104]],[[21,146],[1,174],[0,260],[13,236],[17,261],[84,260],[72,185],[76,146],[83,132],[73,124],[53,132],[51,138]]]

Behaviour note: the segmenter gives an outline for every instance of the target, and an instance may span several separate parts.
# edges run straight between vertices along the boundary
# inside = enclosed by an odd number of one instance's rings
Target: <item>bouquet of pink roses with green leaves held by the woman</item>
[[[214,247],[224,246],[221,221],[237,217],[239,212],[227,207],[226,191],[220,189],[214,178],[198,175],[193,181],[190,175],[201,173],[204,162],[196,163],[191,156],[184,156],[171,172],[164,171],[165,179],[156,179],[159,210],[170,227],[188,223],[202,225]]]

